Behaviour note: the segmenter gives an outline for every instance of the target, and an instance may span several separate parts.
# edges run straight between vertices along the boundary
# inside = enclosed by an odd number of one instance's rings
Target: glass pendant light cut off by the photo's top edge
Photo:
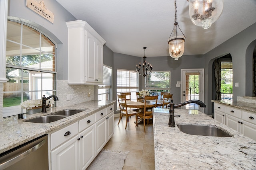
[[[188,0],[189,16],[192,23],[209,28],[220,17],[222,0]]]

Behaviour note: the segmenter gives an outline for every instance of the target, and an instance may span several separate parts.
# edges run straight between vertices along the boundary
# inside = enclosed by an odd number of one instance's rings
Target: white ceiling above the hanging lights
[[[174,0],[57,0],[88,22],[115,53],[168,56]],[[188,1],[177,0],[177,22],[186,36],[184,55],[205,54],[256,22],[256,0],[223,0],[220,18],[209,29],[190,21]]]

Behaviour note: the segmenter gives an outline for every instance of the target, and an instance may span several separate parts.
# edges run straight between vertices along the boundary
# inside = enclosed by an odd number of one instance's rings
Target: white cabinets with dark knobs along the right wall
[[[214,103],[214,119],[256,141],[256,113]]]

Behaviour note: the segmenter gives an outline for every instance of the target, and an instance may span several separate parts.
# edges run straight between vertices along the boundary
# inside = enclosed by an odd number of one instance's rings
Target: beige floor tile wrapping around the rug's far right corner
[[[119,148],[118,151],[126,152],[129,151],[126,160],[124,161],[125,166],[133,166],[140,168],[142,160],[142,150],[124,149]]]

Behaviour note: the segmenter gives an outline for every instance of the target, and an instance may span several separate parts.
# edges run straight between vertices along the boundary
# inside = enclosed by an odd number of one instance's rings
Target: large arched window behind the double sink
[[[25,113],[20,103],[56,95],[56,45],[40,31],[8,21],[3,117]]]

